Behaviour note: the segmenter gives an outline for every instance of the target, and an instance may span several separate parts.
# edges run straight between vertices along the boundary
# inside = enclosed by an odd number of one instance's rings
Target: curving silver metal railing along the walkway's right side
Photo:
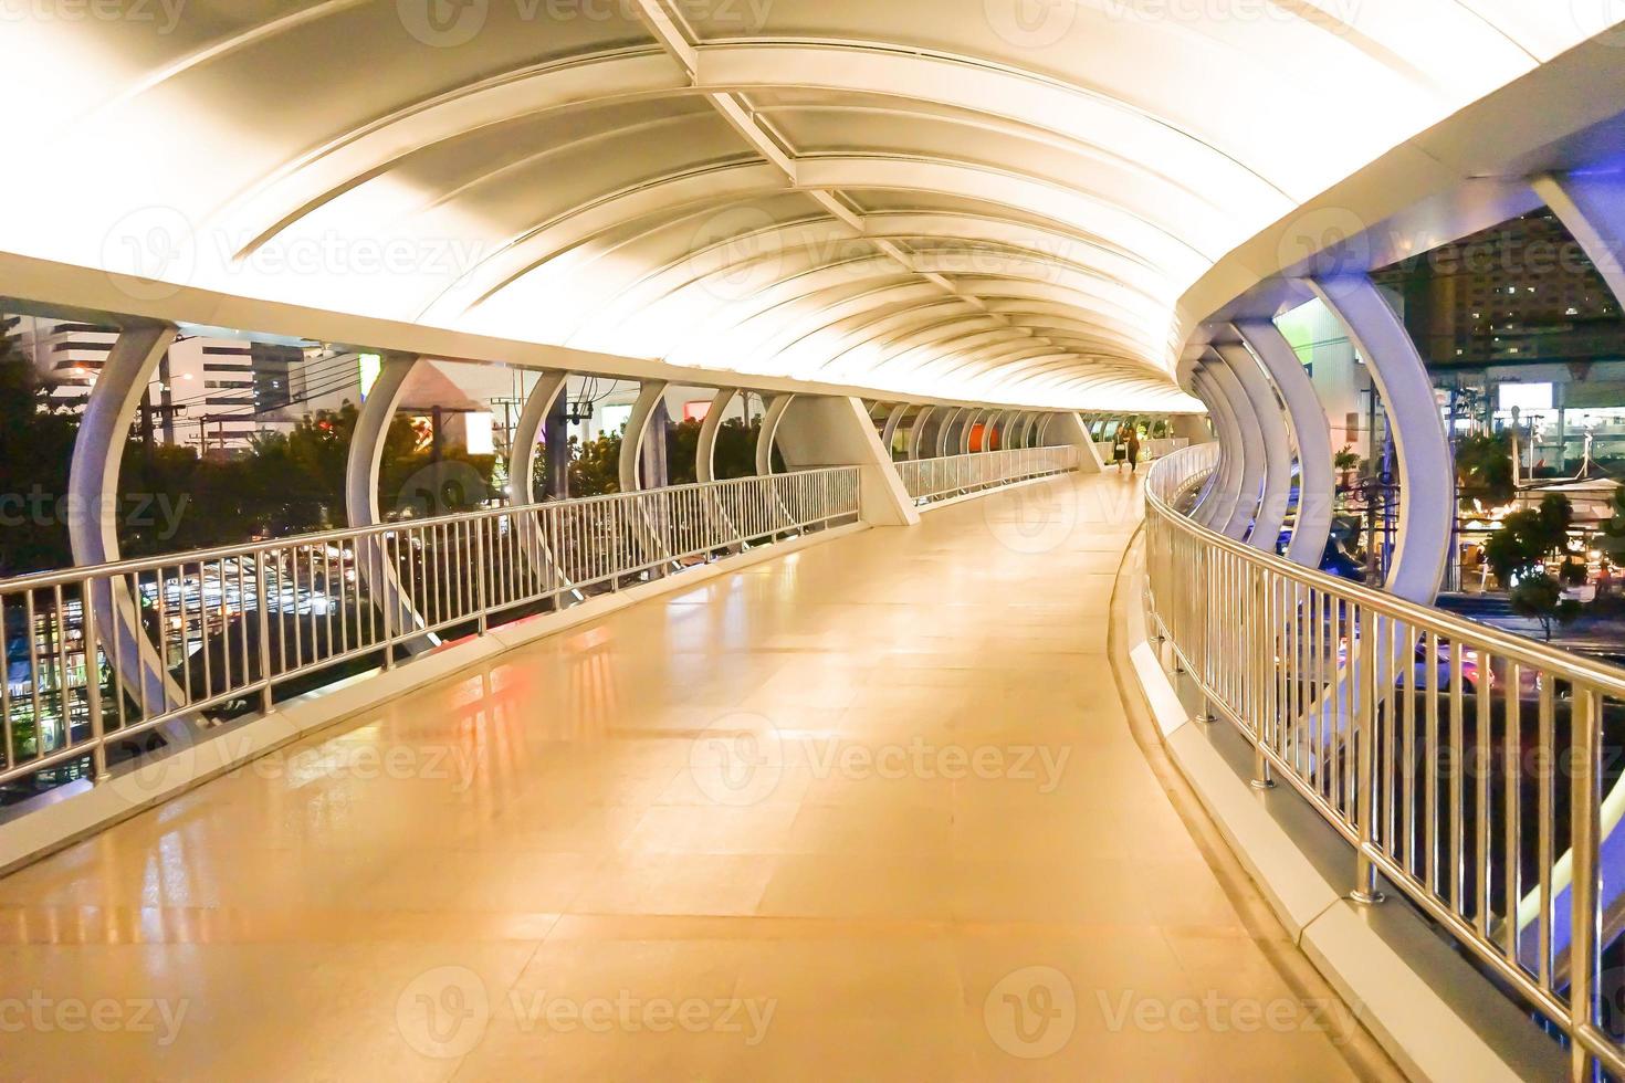
[[[1217,445],[1146,487],[1152,628],[1285,779],[1566,1034],[1575,1078],[1625,1073],[1625,671],[1289,563],[1178,511]]]

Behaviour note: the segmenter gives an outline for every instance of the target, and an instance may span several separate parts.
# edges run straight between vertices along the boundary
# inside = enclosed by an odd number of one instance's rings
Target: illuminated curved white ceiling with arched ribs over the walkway
[[[26,102],[0,250],[723,372],[1183,408],[1178,297],[1606,29],[1578,6],[39,3],[0,32]]]

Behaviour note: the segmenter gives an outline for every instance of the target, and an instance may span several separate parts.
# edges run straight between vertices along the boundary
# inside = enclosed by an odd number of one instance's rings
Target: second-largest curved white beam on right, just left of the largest
[[[1269,320],[1243,320],[1237,334],[1253,349],[1287,404],[1287,422],[1298,448],[1298,511],[1287,544],[1287,560],[1318,568],[1331,536],[1337,479],[1331,458],[1331,427],[1297,351]]]

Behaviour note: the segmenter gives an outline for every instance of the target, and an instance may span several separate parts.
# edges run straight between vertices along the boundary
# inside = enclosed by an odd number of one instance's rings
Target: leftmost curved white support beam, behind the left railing
[[[68,547],[78,567],[110,563],[119,549],[119,468],[130,422],[141,404],[164,351],[176,341],[169,323],[132,323],[119,331],[73,442],[68,464]],[[153,713],[177,710],[185,703],[180,685],[169,677],[164,659],[141,627],[140,606],[132,593],[106,580],[91,585],[89,612],[119,684]],[[185,729],[179,723],[172,737]]]

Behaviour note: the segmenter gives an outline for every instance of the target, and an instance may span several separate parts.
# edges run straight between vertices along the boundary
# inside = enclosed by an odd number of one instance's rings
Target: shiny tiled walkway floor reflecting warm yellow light
[[[1347,1078],[1129,736],[1136,505],[812,546],[0,880],[0,1077]]]

